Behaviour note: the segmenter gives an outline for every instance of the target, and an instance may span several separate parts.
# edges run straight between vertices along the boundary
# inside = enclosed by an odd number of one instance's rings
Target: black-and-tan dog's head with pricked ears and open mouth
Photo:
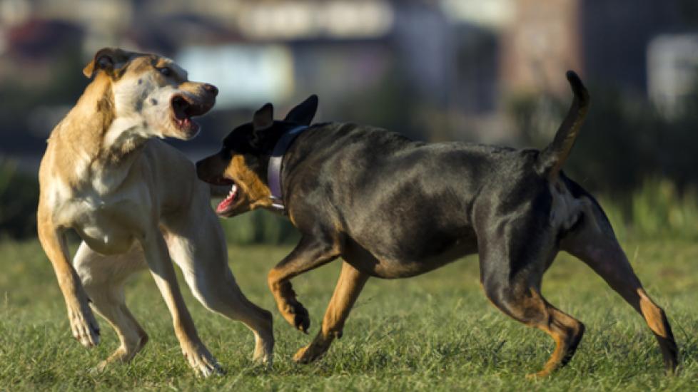
[[[274,145],[291,128],[310,125],[317,109],[318,97],[313,95],[293,108],[283,121],[275,121],[274,108],[267,103],[255,112],[251,123],[238,126],[223,139],[221,151],[196,163],[201,180],[231,187],[216,207],[218,215],[233,217],[271,206],[267,168]]]

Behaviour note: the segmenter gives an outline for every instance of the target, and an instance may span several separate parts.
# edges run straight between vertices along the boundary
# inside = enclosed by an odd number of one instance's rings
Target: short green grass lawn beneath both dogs
[[[698,386],[698,244],[624,244],[649,294],[664,307],[682,355],[667,377],[657,344],[642,319],[590,269],[561,254],[544,281],[547,299],[585,322],[587,333],[569,366],[527,381],[552,351],[552,339],[491,306],[469,257],[413,279],[372,279],[344,337],[311,365],[290,360],[310,336],[275,311],[268,270],[290,247],[232,247],[231,266],[246,295],[275,315],[272,370],[251,362],[253,336],[242,324],[203,309],[186,292],[199,334],[227,373],[197,378],[186,365],[166,306],[149,274],[127,287],[127,301],[151,337],[133,362],[88,373],[116,349],[106,321],[101,344],[84,349],[71,337],[63,298],[36,242],[0,243],[0,390],[273,390],[577,391],[695,390]],[[318,331],[338,277],[334,262],[294,280]],[[182,282],[182,279],[180,279]]]

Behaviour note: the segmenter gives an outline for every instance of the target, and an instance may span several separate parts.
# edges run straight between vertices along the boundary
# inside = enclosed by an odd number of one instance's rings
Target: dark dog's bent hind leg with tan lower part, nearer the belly
[[[555,235],[543,223],[540,214],[522,212],[517,219],[490,222],[477,233],[480,279],[487,298],[508,316],[545,331],[555,341],[545,366],[529,377],[547,376],[565,366],[585,331],[584,324],[540,293],[543,273],[557,254]]]

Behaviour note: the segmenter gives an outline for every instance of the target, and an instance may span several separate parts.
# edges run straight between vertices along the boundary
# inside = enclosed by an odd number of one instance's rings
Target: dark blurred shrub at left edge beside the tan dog
[[[16,164],[0,158],[0,237],[36,236],[39,182],[16,170]]]

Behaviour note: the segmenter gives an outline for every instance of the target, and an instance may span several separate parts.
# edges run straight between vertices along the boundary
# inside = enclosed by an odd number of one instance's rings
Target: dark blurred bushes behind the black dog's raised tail
[[[565,164],[570,177],[592,192],[611,195],[644,189],[647,178],[665,178],[678,190],[698,185],[698,99],[687,101],[683,115],[666,118],[641,96],[602,86],[589,90],[590,112]],[[510,99],[507,108],[522,144],[543,148],[550,143],[569,99]]]

